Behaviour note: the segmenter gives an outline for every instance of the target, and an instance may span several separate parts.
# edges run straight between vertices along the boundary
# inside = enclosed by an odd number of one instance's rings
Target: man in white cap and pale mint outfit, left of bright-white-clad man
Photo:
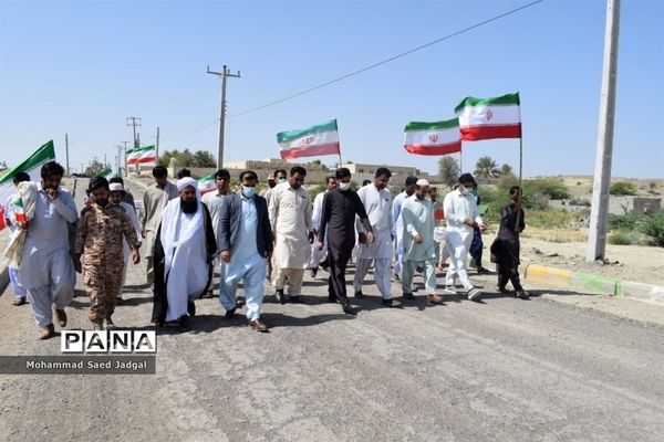
[[[415,269],[421,265],[424,267],[426,302],[428,304],[440,304],[443,302],[443,298],[436,294],[435,201],[436,189],[429,188],[427,180],[419,179],[415,185],[415,193],[406,199],[401,212],[404,224],[404,269],[402,273],[404,298],[415,298],[413,295],[413,274]]]

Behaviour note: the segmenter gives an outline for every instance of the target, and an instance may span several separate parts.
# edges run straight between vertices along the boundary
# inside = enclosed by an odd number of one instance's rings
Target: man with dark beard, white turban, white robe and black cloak
[[[152,320],[184,328],[187,314],[196,314],[194,299],[210,285],[217,241],[210,213],[197,198],[196,180],[178,180],[177,190],[179,198],[164,209],[156,235]]]

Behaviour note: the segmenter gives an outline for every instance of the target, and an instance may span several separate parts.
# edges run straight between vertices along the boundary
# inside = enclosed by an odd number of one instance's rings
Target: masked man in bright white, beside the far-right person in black
[[[466,296],[470,301],[477,301],[481,292],[468,280],[468,250],[473,241],[473,229],[478,227],[486,230],[487,225],[479,217],[475,197],[470,193],[475,186],[475,179],[470,173],[459,177],[459,187],[447,193],[443,202],[443,211],[447,221],[446,243],[449,253],[449,269],[445,277],[445,292],[456,294],[454,285],[456,278],[460,281],[466,290]]]

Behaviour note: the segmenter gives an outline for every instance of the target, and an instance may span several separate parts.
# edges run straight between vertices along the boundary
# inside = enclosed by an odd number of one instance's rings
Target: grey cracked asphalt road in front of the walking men
[[[120,327],[152,329],[143,275],[131,267]],[[188,332],[159,332],[154,376],[0,375],[0,440],[664,440],[662,325],[554,301],[566,293],[496,294],[492,276],[473,276],[483,303],[427,307],[419,290],[403,309],[370,277],[353,318],[326,303],[325,276],[307,277],[303,304],[266,297],[269,334],[199,301]],[[68,328],[89,327],[79,294]],[[0,332],[0,355],[60,355],[11,288]]]

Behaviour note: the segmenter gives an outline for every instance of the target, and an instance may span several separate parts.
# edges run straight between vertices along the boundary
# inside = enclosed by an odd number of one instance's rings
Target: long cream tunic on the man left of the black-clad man
[[[311,260],[311,200],[303,188],[284,182],[272,189],[269,206],[278,269],[307,269]]]

